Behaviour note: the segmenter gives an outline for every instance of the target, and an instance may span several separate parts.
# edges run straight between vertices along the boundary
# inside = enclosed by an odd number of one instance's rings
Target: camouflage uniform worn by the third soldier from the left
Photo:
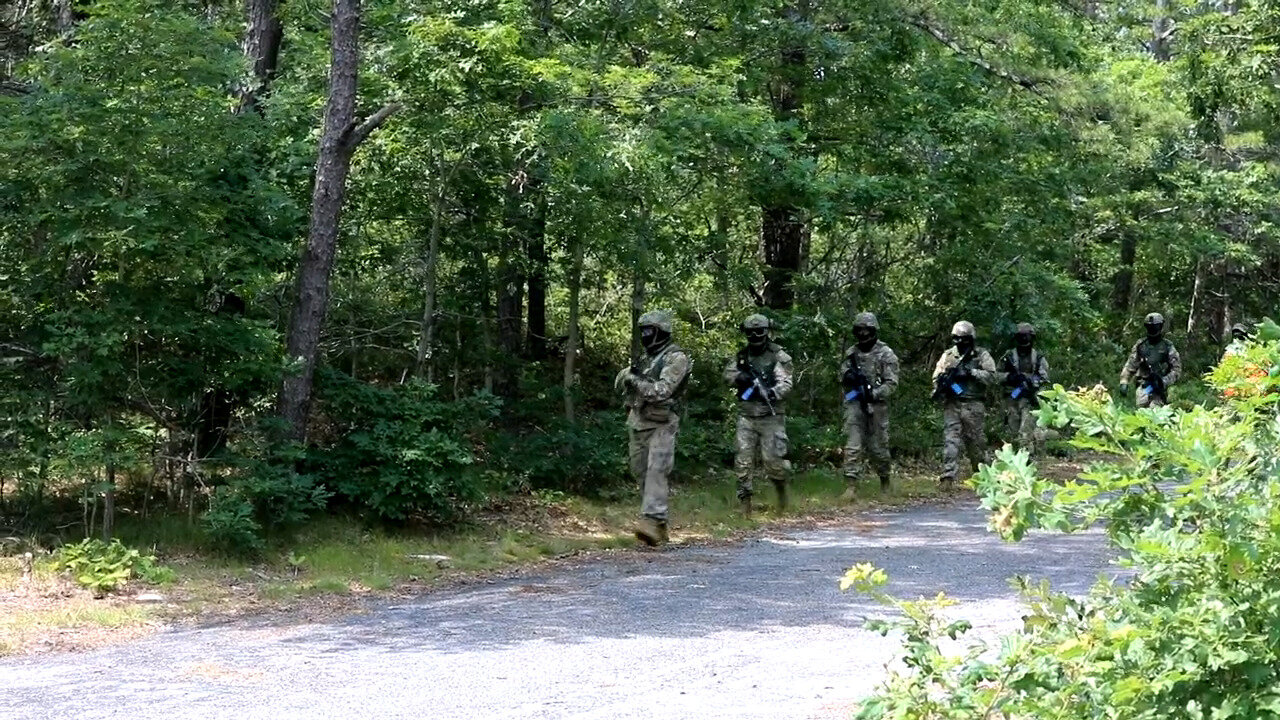
[[[874,318],[872,318],[874,322]],[[867,410],[858,398],[845,400],[845,480],[852,486],[863,473],[864,456],[870,456],[872,466],[879,475],[881,484],[888,484],[888,397],[897,388],[897,355],[877,340],[870,350],[863,351],[856,345],[845,351],[845,361],[840,365],[840,378],[854,369],[856,364],[870,383],[872,393],[867,398]]]

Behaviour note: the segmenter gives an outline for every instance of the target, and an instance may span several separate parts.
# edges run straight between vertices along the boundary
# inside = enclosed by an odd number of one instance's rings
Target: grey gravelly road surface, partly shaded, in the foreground
[[[1107,559],[1097,532],[1002,543],[970,498],[614,553],[329,624],[264,618],[0,660],[0,717],[847,717],[897,651],[863,629],[881,609],[838,592],[850,565],[884,568],[899,596],[946,591],[992,635],[1023,610],[1011,575],[1082,593]]]

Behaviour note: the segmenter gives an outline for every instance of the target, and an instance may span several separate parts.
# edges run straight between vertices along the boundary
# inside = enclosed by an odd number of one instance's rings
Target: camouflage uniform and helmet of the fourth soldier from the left
[[[973,325],[969,323],[956,323],[952,333],[961,325],[968,327],[968,333],[973,334]],[[960,365],[960,351],[948,347],[938,364],[933,368],[933,380],[937,383],[943,373]],[[960,454],[969,455],[969,462],[974,470],[987,461],[987,437],[983,427],[986,419],[986,405],[983,393],[986,386],[997,380],[996,361],[991,352],[983,347],[974,346],[964,366],[969,370],[969,377],[960,379],[960,395],[947,395],[942,402],[942,477],[945,484],[954,483],[960,468]]]

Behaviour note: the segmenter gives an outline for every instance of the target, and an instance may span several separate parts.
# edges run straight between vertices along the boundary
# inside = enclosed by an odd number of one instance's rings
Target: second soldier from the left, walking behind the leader
[[[751,515],[751,473],[759,455],[764,474],[778,491],[778,510],[787,507],[787,425],[783,401],[791,392],[791,356],[769,341],[769,319],[751,315],[740,325],[746,347],[724,365],[724,382],[737,396],[737,500]]]

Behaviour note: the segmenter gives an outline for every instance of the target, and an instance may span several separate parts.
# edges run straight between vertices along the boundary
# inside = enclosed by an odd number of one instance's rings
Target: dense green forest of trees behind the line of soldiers
[[[9,0],[0,527],[445,527],[627,488],[646,310],[694,357],[678,482],[724,482],[762,311],[792,461],[838,464],[859,311],[936,461],[956,320],[1064,386],[1142,318],[1175,406],[1280,300],[1280,4]],[[993,442],[1000,429],[991,423]]]

